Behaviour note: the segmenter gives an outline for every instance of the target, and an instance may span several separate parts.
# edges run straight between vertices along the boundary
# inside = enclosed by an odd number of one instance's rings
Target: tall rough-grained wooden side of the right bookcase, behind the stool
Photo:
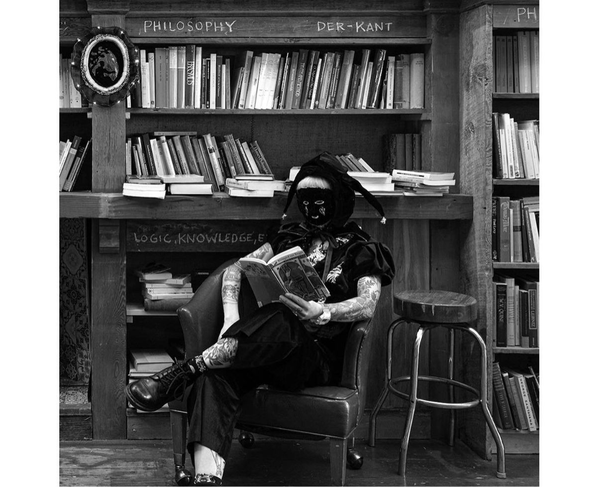
[[[460,290],[475,296],[479,304],[477,330],[491,344],[491,91],[493,30],[491,7],[479,7],[460,16],[460,188],[471,194],[473,221],[461,225]],[[458,360],[466,364],[467,382],[479,381],[479,354],[470,342],[460,348]],[[488,354],[487,366],[491,363]],[[489,369],[491,370],[491,369]],[[488,384],[491,400],[491,381]],[[490,440],[481,409],[458,416],[460,437],[480,455],[489,458]]]

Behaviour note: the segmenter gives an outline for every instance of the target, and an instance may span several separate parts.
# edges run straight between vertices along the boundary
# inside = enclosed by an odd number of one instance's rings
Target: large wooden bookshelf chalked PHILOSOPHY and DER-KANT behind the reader
[[[143,32],[144,19],[174,20],[187,17],[238,18],[254,31],[232,35],[189,32]],[[272,21],[275,18],[275,22]],[[279,22],[278,22],[279,19]],[[347,35],[341,29],[318,32],[317,22],[345,22],[362,19],[383,23],[391,30],[361,32]],[[137,415],[127,411],[123,387],[127,381],[127,320],[137,317],[150,320],[146,314],[126,302],[127,264],[133,262],[127,248],[127,220],[221,220],[234,225],[259,216],[263,220],[279,220],[286,195],[273,198],[174,197],[147,201],[127,198],[121,194],[125,180],[125,140],[131,134],[155,130],[209,130],[214,134],[259,140],[273,172],[285,178],[288,169],[298,166],[322,151],[346,152],[364,157],[374,169],[383,164],[381,136],[385,133],[420,133],[423,167],[426,171],[456,173],[454,194],[443,197],[380,197],[387,223],[363,198],[357,198],[355,220],[372,237],[383,241],[399,265],[400,278],[384,288],[375,318],[371,340],[376,350],[384,350],[384,330],[393,319],[394,292],[403,289],[460,290],[461,234],[469,231],[475,212],[475,200],[468,189],[459,188],[458,134],[458,39],[460,11],[457,1],[428,0],[426,2],[386,2],[370,0],[333,1],[327,4],[305,4],[290,0],[283,7],[274,0],[198,0],[189,2],[115,1],[106,6],[100,0],[61,2],[60,35],[63,50],[72,46],[93,26],[119,26],[140,48],[157,45],[201,44],[226,53],[240,53],[247,47],[256,51],[293,51],[297,46],[318,46],[320,50],[339,51],[342,48],[387,48],[393,52],[425,54],[424,109],[316,109],[316,110],[232,110],[232,109],[126,109],[125,103],[110,108],[60,111],[61,124],[75,129],[79,118],[88,113],[86,124],[93,135],[93,157],[90,171],[91,191],[60,194],[60,216],[91,219],[91,326],[90,344],[93,351],[94,380],[91,385],[93,402],[93,438],[126,439],[152,436],[152,415]],[[315,24],[313,24],[315,23]],[[265,25],[266,27],[263,27]],[[327,24],[326,24],[327,25]],[[257,29],[255,31],[255,29]],[[284,30],[287,29],[287,30]],[[384,27],[385,29],[385,27]],[[245,32],[247,32],[245,30]],[[297,50],[297,49],[296,49]],[[432,69],[433,67],[433,69]],[[247,116],[248,115],[248,116]],[[294,116],[296,115],[296,117]],[[64,130],[66,131],[66,129]],[[293,204],[289,216],[298,215]],[[220,252],[220,254],[218,254]],[[155,252],[147,252],[155,257]],[[223,251],[214,250],[210,259],[214,265]],[[167,252],[158,255],[168,259]],[[136,255],[137,257],[137,255]],[[149,258],[149,256],[147,257]],[[223,258],[223,257],[222,257]],[[226,255],[226,258],[229,258]],[[109,283],[109,284],[106,284]],[[157,317],[159,319],[159,316]],[[399,339],[406,341],[407,332]],[[438,375],[447,372],[447,338],[434,339],[434,351],[424,345],[421,359],[426,369]],[[398,366],[407,366],[410,359],[397,357]],[[384,357],[380,354],[370,365],[367,404],[373,402],[383,387]],[[438,400],[444,391],[439,392]],[[390,398],[384,409],[404,406]],[[426,431],[432,437],[444,437],[448,428],[441,411],[425,416]],[[143,434],[139,424],[143,422]],[[396,428],[398,432],[399,428]]]

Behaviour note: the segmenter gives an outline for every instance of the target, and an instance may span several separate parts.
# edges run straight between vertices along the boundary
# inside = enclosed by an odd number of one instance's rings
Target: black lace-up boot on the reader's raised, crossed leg
[[[181,362],[152,376],[139,379],[127,385],[125,393],[131,404],[142,411],[156,411],[165,403],[181,397],[187,383],[193,381],[205,370],[201,356]]]

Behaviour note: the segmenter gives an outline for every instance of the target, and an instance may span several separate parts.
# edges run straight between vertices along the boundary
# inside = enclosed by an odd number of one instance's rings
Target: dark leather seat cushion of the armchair
[[[344,387],[328,385],[284,391],[261,385],[243,397],[238,421],[344,438],[356,427],[358,403],[358,391]]]

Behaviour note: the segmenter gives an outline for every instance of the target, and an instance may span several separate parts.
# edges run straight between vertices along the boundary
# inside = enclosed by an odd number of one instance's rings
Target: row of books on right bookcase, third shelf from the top
[[[491,198],[493,262],[539,262],[539,197]]]

